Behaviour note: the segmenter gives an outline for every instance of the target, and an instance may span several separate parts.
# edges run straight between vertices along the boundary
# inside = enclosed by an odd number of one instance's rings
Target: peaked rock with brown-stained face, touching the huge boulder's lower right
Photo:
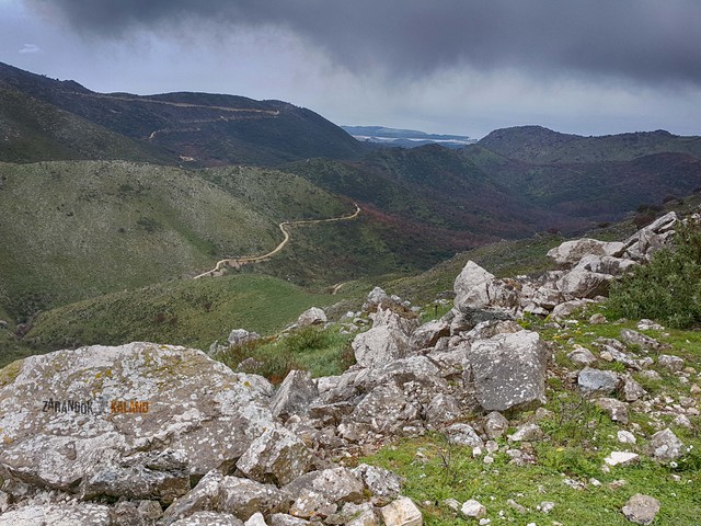
[[[288,484],[309,471],[312,460],[312,453],[297,435],[274,425],[251,443],[237,468],[258,482]]]

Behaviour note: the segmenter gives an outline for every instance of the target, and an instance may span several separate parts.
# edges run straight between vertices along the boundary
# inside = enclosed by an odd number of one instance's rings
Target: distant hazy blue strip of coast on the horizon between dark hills
[[[366,144],[386,147],[415,148],[425,145],[440,145],[446,148],[462,148],[476,142],[462,135],[426,134],[415,129],[387,128],[384,126],[341,126],[354,138]]]

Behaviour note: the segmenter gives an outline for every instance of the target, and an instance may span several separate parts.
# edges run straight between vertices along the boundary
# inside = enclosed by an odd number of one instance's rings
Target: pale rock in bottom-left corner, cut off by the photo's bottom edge
[[[0,526],[110,526],[110,507],[101,504],[28,505],[0,515]]]

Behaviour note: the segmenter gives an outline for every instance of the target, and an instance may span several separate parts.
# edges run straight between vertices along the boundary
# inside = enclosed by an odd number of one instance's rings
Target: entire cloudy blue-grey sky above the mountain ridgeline
[[[0,0],[0,61],[340,125],[701,135],[699,0]]]

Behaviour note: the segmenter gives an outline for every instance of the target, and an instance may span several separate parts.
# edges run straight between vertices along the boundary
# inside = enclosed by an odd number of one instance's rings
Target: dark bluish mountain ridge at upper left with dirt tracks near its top
[[[343,129],[311,112],[281,101],[254,101],[243,96],[208,93],[166,93],[134,95],[129,93],[96,93],[74,81],[58,81],[30,73],[0,62],[0,89],[11,98],[31,98],[45,108],[57,108],[79,117],[80,123],[105,128],[130,139],[149,151],[153,162],[188,163],[193,167],[222,164],[276,164],[310,157],[331,159],[354,158],[364,146]],[[19,94],[18,94],[19,93]],[[35,102],[36,101],[36,102]],[[32,139],[26,128],[35,128],[32,119],[18,124],[13,101],[0,100],[0,122],[5,137],[19,145]],[[49,105],[49,106],[46,106]],[[53,110],[58,113],[56,110]],[[65,113],[60,114],[66,117]],[[15,123],[15,124],[13,124]],[[88,130],[85,130],[88,134]],[[56,137],[49,130],[41,134],[41,142],[54,147]],[[36,139],[39,141],[39,139]],[[55,147],[67,158],[71,150],[66,141]],[[106,141],[118,144],[118,140]],[[106,144],[105,144],[106,145]],[[34,157],[39,160],[41,148]],[[90,151],[76,149],[72,159],[133,159],[134,155],[93,145]],[[62,147],[59,148],[59,147]],[[19,146],[15,149],[21,149]],[[115,157],[105,157],[108,153]],[[143,157],[139,159],[146,160]]]

